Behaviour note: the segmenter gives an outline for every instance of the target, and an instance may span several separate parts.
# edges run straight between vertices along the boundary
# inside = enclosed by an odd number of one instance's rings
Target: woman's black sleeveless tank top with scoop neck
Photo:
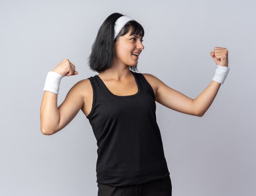
[[[130,70],[131,71],[131,70]],[[97,140],[97,183],[139,185],[170,175],[156,121],[155,94],[143,74],[131,71],[136,94],[112,94],[98,75],[89,119]]]

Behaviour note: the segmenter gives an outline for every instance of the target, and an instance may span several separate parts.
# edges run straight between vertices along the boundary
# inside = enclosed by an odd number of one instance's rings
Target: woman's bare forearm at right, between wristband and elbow
[[[197,98],[194,99],[195,108],[200,116],[203,116],[211,106],[214,98],[218,93],[218,90],[220,89],[220,85],[220,83],[212,80],[208,87],[204,89],[204,91],[202,91],[202,93]]]

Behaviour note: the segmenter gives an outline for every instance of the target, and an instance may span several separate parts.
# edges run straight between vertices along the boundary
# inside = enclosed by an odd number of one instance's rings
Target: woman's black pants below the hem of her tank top
[[[98,196],[171,196],[170,176],[141,185],[113,187],[98,183]]]

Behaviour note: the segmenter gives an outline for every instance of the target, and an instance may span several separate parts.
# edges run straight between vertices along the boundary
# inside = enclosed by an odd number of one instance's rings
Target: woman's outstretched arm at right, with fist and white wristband
[[[210,85],[195,99],[189,98],[181,92],[168,87],[164,82],[152,74],[144,73],[143,75],[155,90],[156,102],[184,114],[202,117],[211,106],[218,93],[220,85],[223,84],[225,80],[225,75],[228,73],[226,70],[226,67],[228,67],[227,53],[227,49],[220,47],[215,47],[214,52],[210,52],[210,55],[216,64],[224,66],[225,69],[219,70],[221,67],[218,67],[216,69],[217,74],[213,77]]]

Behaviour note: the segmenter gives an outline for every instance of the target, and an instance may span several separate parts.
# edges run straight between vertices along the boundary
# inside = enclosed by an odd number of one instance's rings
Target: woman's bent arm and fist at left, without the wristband
[[[53,70],[64,76],[77,75],[75,66],[64,59]],[[52,135],[63,129],[76,116],[84,106],[84,96],[82,94],[84,82],[77,82],[67,93],[63,103],[58,107],[57,94],[45,91],[40,108],[40,129],[45,135]]]

